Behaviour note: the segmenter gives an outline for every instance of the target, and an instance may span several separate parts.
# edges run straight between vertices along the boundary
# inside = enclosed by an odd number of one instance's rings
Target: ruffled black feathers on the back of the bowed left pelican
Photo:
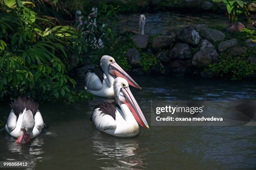
[[[27,97],[18,97],[14,101],[11,101],[10,107],[13,109],[13,112],[18,119],[20,113],[22,113],[25,108],[30,110],[35,116],[39,104],[33,99],[28,99]]]

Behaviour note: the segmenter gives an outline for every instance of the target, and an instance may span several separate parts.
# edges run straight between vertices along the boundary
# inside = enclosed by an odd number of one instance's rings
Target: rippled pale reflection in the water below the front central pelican
[[[143,167],[143,157],[139,144],[134,138],[105,140],[105,135],[101,132],[95,133],[92,137],[93,149],[97,160],[104,164],[109,164],[111,160],[117,160],[110,167],[100,167],[102,169],[131,169]]]

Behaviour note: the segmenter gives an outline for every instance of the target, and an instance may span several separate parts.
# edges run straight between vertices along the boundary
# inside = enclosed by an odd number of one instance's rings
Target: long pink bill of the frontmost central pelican
[[[148,127],[148,123],[141,112],[141,108],[138,106],[137,101],[134,99],[133,94],[131,93],[131,90],[129,87],[121,88],[121,92],[125,96],[125,101],[123,101],[128,108],[131,110],[133,117],[136,119],[138,124],[140,124],[142,127]]]

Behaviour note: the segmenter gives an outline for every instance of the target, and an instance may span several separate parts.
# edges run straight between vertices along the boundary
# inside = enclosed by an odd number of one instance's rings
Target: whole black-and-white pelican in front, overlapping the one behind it
[[[117,77],[114,91],[115,102],[102,102],[92,113],[90,120],[96,129],[117,137],[134,137],[139,132],[138,124],[149,128],[128,82]]]

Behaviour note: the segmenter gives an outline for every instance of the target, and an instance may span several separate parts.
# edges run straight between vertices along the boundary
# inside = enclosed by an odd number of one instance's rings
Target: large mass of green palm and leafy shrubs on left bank
[[[5,3],[0,13],[0,98],[26,95],[67,103],[87,98],[70,89],[76,82],[67,76],[67,51],[77,50],[72,46],[77,31],[70,26],[42,30],[31,3],[16,2],[8,4],[11,8]]]

